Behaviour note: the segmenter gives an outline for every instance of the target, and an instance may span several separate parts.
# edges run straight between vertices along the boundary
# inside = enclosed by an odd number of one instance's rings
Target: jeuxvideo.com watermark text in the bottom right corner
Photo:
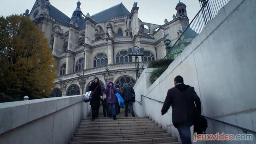
[[[194,134],[194,142],[196,141],[253,141],[252,134]]]

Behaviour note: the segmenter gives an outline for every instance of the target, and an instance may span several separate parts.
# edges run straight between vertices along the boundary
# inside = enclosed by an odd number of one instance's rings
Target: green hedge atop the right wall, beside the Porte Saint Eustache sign
[[[160,59],[156,61],[150,61],[148,68],[157,68],[151,72],[151,76],[149,78],[150,82],[153,84],[154,81],[156,81],[156,79],[159,78],[159,76],[162,75],[163,72],[165,72],[165,70],[173,61],[174,60],[172,59]]]

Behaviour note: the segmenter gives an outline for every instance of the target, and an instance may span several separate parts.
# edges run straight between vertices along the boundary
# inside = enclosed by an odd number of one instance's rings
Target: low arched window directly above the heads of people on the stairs
[[[125,76],[121,76],[118,79],[116,79],[115,87],[122,88],[122,87],[124,87],[125,84],[133,87],[135,85],[135,83],[136,83],[136,81],[134,78],[132,78],[131,76],[125,75]]]

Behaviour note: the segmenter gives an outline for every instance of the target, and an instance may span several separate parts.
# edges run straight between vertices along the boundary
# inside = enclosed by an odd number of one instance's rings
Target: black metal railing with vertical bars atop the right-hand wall
[[[166,48],[164,59],[176,59],[228,1],[230,0],[199,0],[201,9],[188,26],[182,26],[182,34],[172,47]]]

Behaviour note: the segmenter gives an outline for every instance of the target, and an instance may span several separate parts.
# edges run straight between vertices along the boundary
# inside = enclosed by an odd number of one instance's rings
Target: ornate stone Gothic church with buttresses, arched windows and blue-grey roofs
[[[95,77],[100,79],[102,88],[109,81],[116,87],[133,86],[137,80],[135,58],[128,56],[128,48],[144,48],[144,56],[139,57],[143,71],[151,60],[165,57],[163,41],[169,38],[172,46],[189,25],[186,5],[181,2],[174,7],[177,13],[173,19],[169,22],[165,19],[163,25],[142,22],[137,3],[130,11],[120,3],[91,16],[84,15],[80,6],[78,1],[69,18],[49,0],[36,0],[31,12],[24,13],[49,40],[57,66],[56,88],[51,97],[77,95],[82,91],[85,94]]]

